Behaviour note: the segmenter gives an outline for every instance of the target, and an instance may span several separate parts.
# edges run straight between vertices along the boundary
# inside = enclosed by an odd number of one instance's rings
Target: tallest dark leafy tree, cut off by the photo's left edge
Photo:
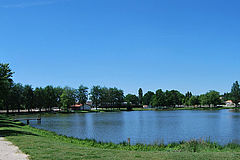
[[[13,74],[9,64],[0,63],[0,108],[6,109],[7,113],[9,112],[9,94],[13,85]]]

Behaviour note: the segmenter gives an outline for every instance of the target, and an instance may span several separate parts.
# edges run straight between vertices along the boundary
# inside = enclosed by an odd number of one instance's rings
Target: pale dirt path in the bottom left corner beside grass
[[[0,160],[28,160],[28,156],[22,153],[17,146],[0,137]]]

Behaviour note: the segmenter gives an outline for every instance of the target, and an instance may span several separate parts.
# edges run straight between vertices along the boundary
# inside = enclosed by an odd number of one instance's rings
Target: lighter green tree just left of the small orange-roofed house
[[[68,112],[69,107],[76,102],[76,90],[70,87],[65,87],[60,99],[63,110]]]

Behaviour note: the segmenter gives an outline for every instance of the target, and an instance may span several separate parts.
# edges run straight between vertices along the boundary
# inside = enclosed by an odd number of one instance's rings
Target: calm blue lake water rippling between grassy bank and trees
[[[42,116],[41,124],[30,124],[62,135],[114,143],[127,138],[132,144],[153,144],[210,137],[220,144],[240,144],[240,112],[231,110],[52,114]]]

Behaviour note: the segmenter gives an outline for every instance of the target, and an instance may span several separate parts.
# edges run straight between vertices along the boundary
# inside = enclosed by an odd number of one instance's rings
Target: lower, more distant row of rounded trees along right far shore
[[[176,107],[176,106],[209,106],[216,107],[217,105],[225,104],[225,101],[232,100],[235,106],[240,102],[240,87],[238,81],[233,83],[230,93],[220,95],[219,92],[210,90],[205,94],[193,95],[187,92],[185,95],[177,90],[158,89],[155,93],[148,91],[143,95],[142,89],[138,91],[138,96],[133,94],[126,95],[127,102],[132,104],[150,105],[153,107]]]

